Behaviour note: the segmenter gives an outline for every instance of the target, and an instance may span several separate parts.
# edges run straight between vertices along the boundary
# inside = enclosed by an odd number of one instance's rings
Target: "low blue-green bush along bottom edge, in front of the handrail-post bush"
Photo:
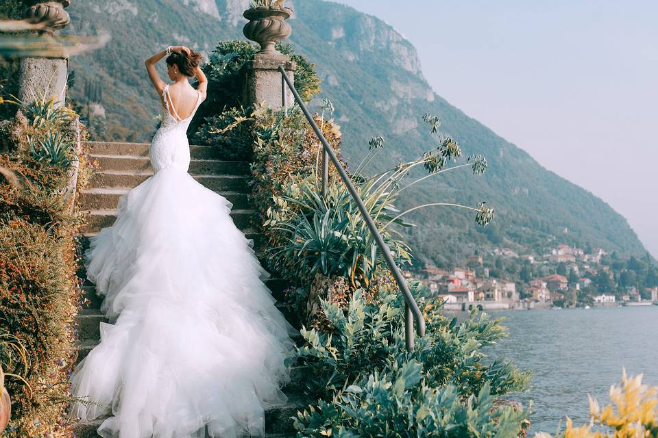
[[[300,437],[507,437],[522,435],[528,412],[496,405],[485,385],[464,401],[454,387],[428,387],[420,365],[377,373],[321,400],[295,419]]]

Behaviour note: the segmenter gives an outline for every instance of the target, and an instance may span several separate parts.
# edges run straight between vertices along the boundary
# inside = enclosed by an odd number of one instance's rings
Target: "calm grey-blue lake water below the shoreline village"
[[[512,397],[535,400],[533,435],[555,433],[565,415],[578,426],[589,422],[587,394],[607,404],[623,367],[658,385],[658,306],[489,313],[504,316],[509,329],[507,339],[487,349],[489,357],[533,371],[529,393]]]

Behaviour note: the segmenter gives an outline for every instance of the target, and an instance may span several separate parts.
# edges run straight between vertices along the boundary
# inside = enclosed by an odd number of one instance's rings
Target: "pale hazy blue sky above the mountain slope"
[[[339,0],[434,90],[628,218],[658,257],[658,1]]]

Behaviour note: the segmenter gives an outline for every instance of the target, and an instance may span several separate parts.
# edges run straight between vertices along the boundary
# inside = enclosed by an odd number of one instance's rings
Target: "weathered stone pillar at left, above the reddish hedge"
[[[55,105],[64,105],[69,60],[50,57],[26,57],[21,60],[19,99],[26,104],[55,96]]]

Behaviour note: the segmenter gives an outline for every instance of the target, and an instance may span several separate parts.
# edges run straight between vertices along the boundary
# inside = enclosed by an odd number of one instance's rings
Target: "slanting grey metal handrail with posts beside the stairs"
[[[361,196],[359,196],[358,192],[356,192],[356,188],[354,188],[354,184],[352,184],[352,181],[350,181],[348,172],[345,172],[345,169],[343,168],[343,166],[341,166],[341,162],[339,162],[338,157],[334,153],[333,149],[331,149],[331,146],[329,146],[329,143],[327,142],[326,138],[324,138],[322,131],[320,131],[319,127],[317,127],[317,123],[315,123],[315,120],[313,120],[313,116],[311,116],[310,112],[308,112],[308,108],[306,108],[304,101],[302,101],[300,94],[297,92],[297,89],[293,85],[293,82],[291,81],[290,77],[287,75],[286,70],[282,66],[280,66],[279,71],[281,72],[281,77],[282,77],[282,94],[283,94],[282,103],[286,114],[288,114],[288,98],[287,98],[286,88],[283,86],[283,83],[285,83],[288,86],[288,88],[293,93],[293,96],[295,96],[295,101],[297,101],[297,104],[300,105],[300,108],[302,109],[304,116],[306,116],[306,120],[308,120],[310,126],[313,127],[313,131],[315,131],[315,135],[317,136],[317,139],[320,141],[324,149],[324,159],[322,160],[324,164],[322,170],[322,174],[323,174],[322,192],[324,196],[326,196],[326,192],[327,192],[328,159],[331,159],[331,162],[334,164],[334,166],[336,166],[336,170],[338,170],[341,179],[343,179],[343,183],[345,183],[345,186],[347,186],[348,192],[350,192],[352,198],[354,199],[354,202],[356,202],[356,205],[358,206],[359,211],[361,211],[361,216],[363,217],[363,220],[365,220],[368,229],[370,230],[373,237],[375,238],[375,242],[379,247],[379,250],[381,251],[382,255],[384,256],[384,259],[386,260],[386,264],[389,266],[389,270],[391,270],[391,273],[395,277],[395,282],[398,283],[398,287],[400,287],[400,290],[402,291],[402,296],[404,297],[404,326],[405,326],[405,336],[406,336],[406,349],[412,351],[414,344],[413,320],[416,321],[416,332],[418,333],[418,336],[423,337],[425,335],[425,318],[423,317],[423,313],[418,308],[418,304],[416,300],[413,298],[413,295],[411,294],[409,287],[406,285],[406,281],[404,280],[404,276],[402,276],[402,272],[400,272],[400,269],[395,264],[395,261],[391,256],[391,251],[389,250],[389,246],[384,242],[382,235],[380,235],[379,231],[377,230],[375,222],[372,220],[367,208],[363,204],[363,200],[361,199]]]

